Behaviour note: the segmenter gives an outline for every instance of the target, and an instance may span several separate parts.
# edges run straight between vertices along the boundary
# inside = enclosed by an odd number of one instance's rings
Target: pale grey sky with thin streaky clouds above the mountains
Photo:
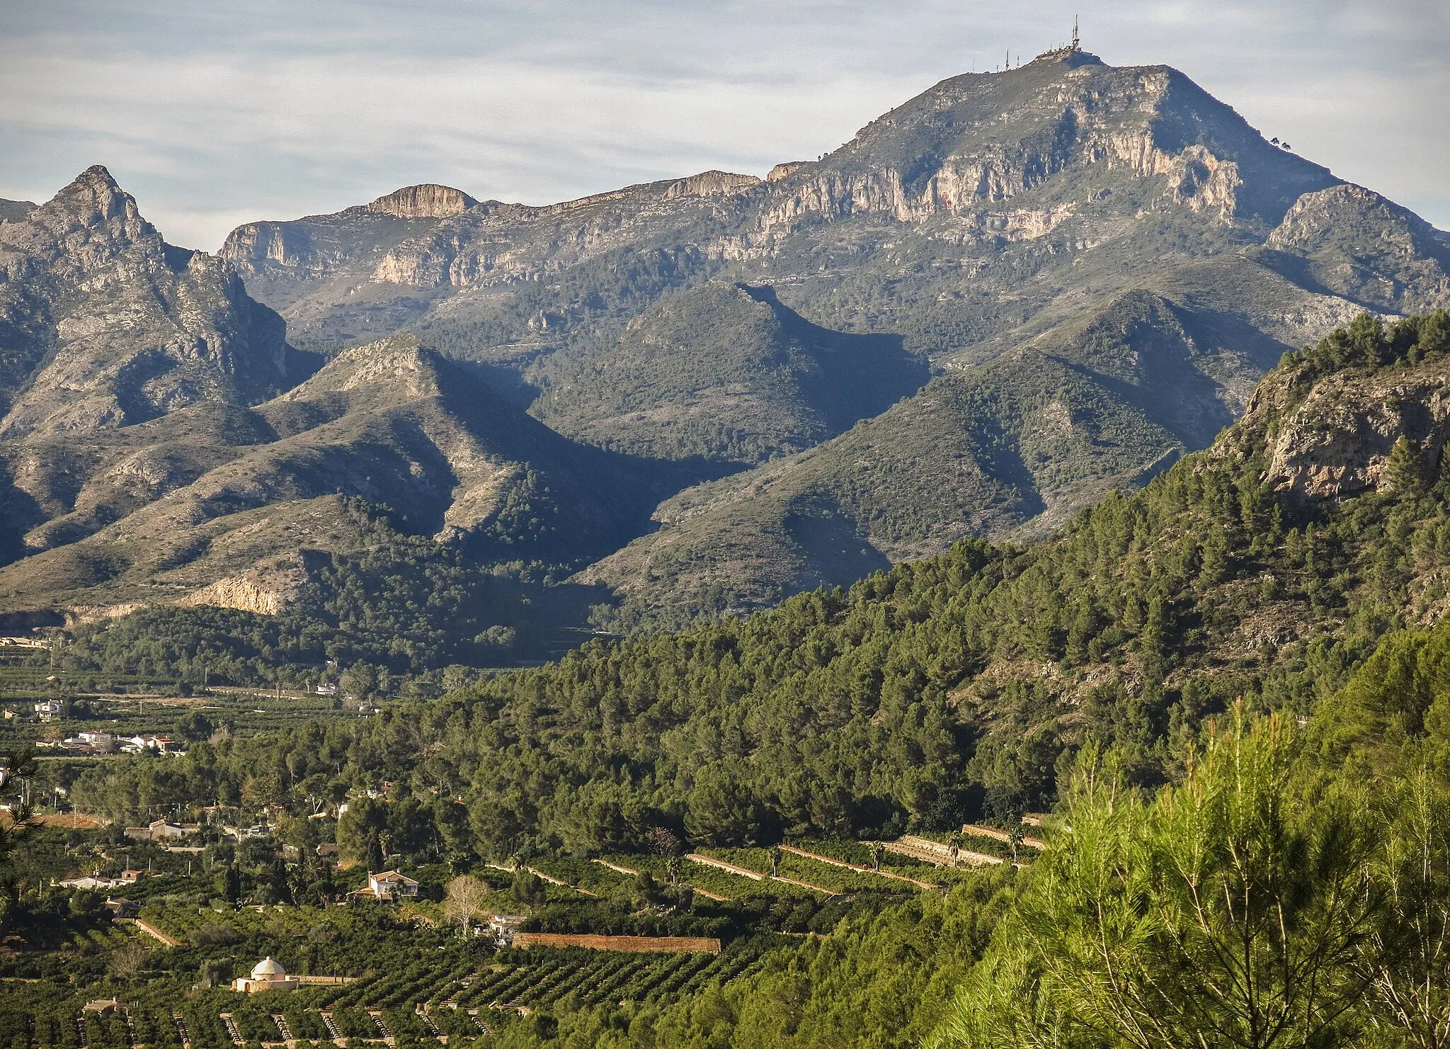
[[[0,197],[104,164],[215,251],[436,181],[531,205],[848,141],[1067,42],[1450,228],[1447,0],[0,0]]]

